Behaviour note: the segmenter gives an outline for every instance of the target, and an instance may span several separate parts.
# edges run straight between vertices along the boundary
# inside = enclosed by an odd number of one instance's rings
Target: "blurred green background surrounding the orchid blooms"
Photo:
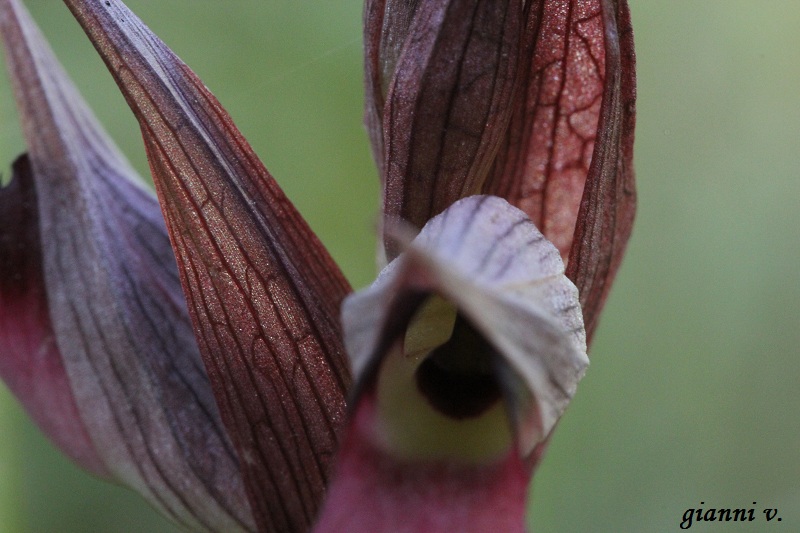
[[[736,531],[800,531],[800,2],[631,4],[638,219],[530,523],[676,531],[704,501],[755,507],[759,521]],[[129,5],[219,97],[353,285],[369,283],[378,181],[361,123],[361,3]],[[147,175],[138,128],[66,8],[28,6]],[[5,175],[22,150],[2,78]],[[765,507],[782,522],[766,523]],[[0,385],[0,533],[70,531],[175,528],[73,467]]]

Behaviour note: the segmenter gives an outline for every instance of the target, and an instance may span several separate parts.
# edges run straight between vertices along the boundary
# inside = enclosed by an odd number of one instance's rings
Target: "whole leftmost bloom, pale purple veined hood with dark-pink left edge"
[[[0,187],[0,376],[53,441],[192,531],[252,531],[158,203],[18,0],[0,0],[28,153]]]

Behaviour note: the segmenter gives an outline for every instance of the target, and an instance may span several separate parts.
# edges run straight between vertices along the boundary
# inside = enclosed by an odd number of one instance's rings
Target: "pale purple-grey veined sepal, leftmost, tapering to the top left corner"
[[[30,149],[55,340],[113,477],[193,530],[254,528],[155,198],[15,1],[3,37]]]

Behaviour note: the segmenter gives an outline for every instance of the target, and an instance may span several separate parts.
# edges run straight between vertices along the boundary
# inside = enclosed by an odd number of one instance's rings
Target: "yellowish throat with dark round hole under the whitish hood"
[[[375,442],[408,460],[485,464],[504,456],[513,435],[501,361],[455,304],[423,295],[378,370]]]

